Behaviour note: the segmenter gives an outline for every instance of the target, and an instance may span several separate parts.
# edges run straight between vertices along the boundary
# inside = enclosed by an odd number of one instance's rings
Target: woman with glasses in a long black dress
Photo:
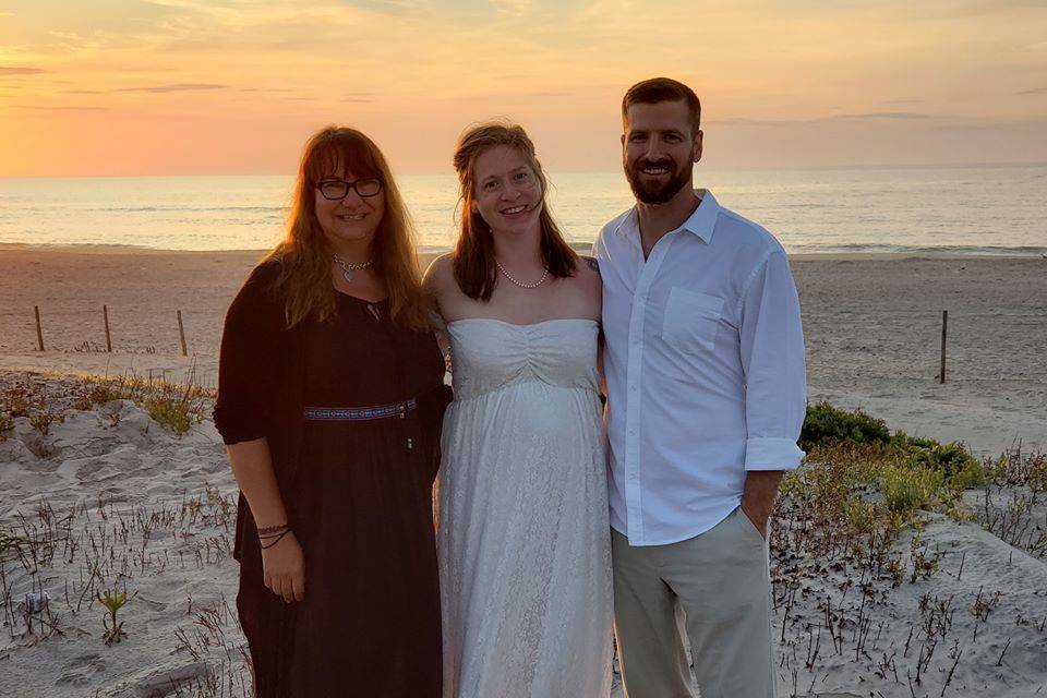
[[[450,395],[374,143],[314,135],[288,228],[229,308],[215,405],[241,492],[255,694],[435,698],[432,485]]]

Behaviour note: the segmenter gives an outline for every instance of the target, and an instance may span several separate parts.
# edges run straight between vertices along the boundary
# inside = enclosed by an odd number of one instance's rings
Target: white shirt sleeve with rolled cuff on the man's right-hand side
[[[745,371],[745,469],[792,470],[807,410],[807,372],[799,298],[782,250],[753,273],[742,297]]]

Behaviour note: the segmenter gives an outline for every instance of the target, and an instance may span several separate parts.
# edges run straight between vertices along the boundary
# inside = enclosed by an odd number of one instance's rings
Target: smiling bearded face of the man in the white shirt
[[[622,164],[636,198],[664,204],[689,190],[695,163],[701,159],[701,131],[691,134],[687,103],[629,106],[622,134]]]

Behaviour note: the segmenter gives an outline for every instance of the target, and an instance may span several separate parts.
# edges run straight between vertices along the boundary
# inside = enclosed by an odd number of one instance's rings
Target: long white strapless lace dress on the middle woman
[[[445,698],[606,698],[613,599],[591,320],[448,325]]]

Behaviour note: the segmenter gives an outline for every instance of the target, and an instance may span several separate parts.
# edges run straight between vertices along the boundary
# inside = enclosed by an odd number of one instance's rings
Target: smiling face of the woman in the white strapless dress
[[[540,227],[542,186],[530,161],[510,145],[481,153],[474,164],[472,213],[494,231],[522,232]]]

